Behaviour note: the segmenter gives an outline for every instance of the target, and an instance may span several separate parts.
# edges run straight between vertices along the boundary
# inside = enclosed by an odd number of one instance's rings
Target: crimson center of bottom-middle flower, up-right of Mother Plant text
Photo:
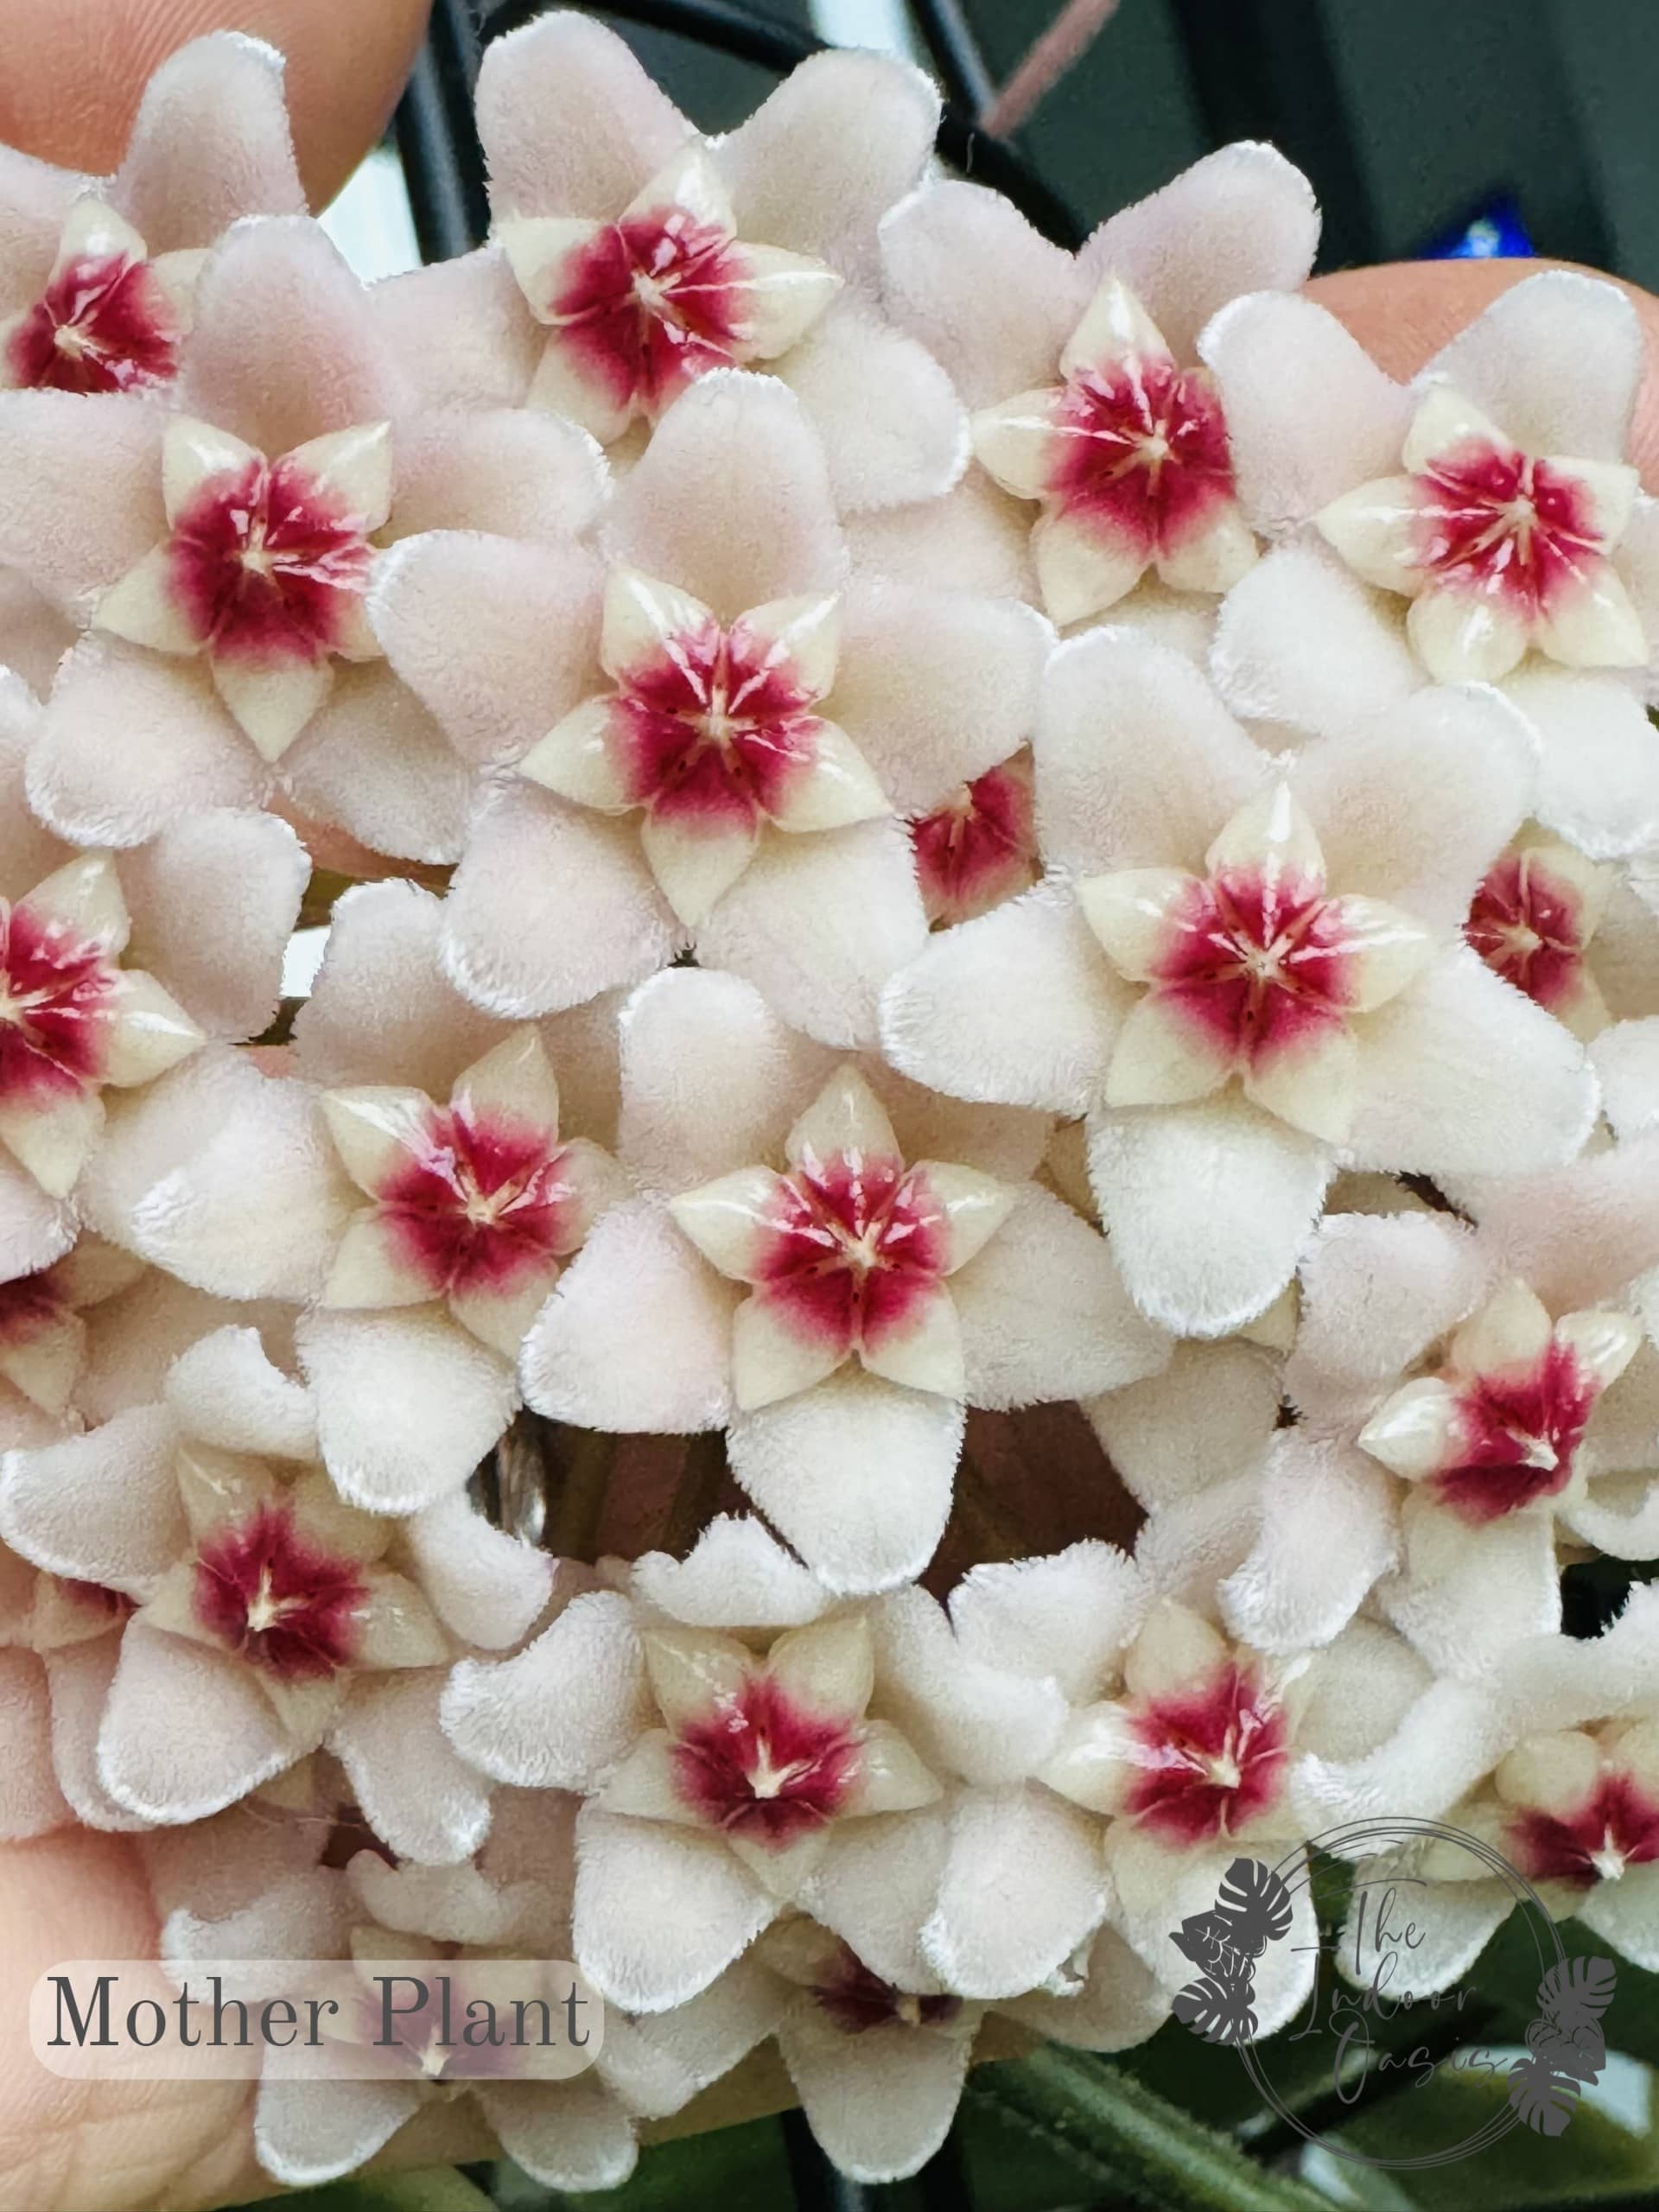
[[[841,1812],[858,1774],[858,1730],[750,1674],[708,1719],[681,1728],[672,1767],[681,1798],[710,1825],[783,1849]]]

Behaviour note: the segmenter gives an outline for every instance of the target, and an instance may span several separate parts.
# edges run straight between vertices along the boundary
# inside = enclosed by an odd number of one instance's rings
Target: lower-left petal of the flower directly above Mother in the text
[[[204,1820],[281,1774],[296,1741],[226,1652],[128,1626],[97,1745],[100,1781],[148,1820]]]

